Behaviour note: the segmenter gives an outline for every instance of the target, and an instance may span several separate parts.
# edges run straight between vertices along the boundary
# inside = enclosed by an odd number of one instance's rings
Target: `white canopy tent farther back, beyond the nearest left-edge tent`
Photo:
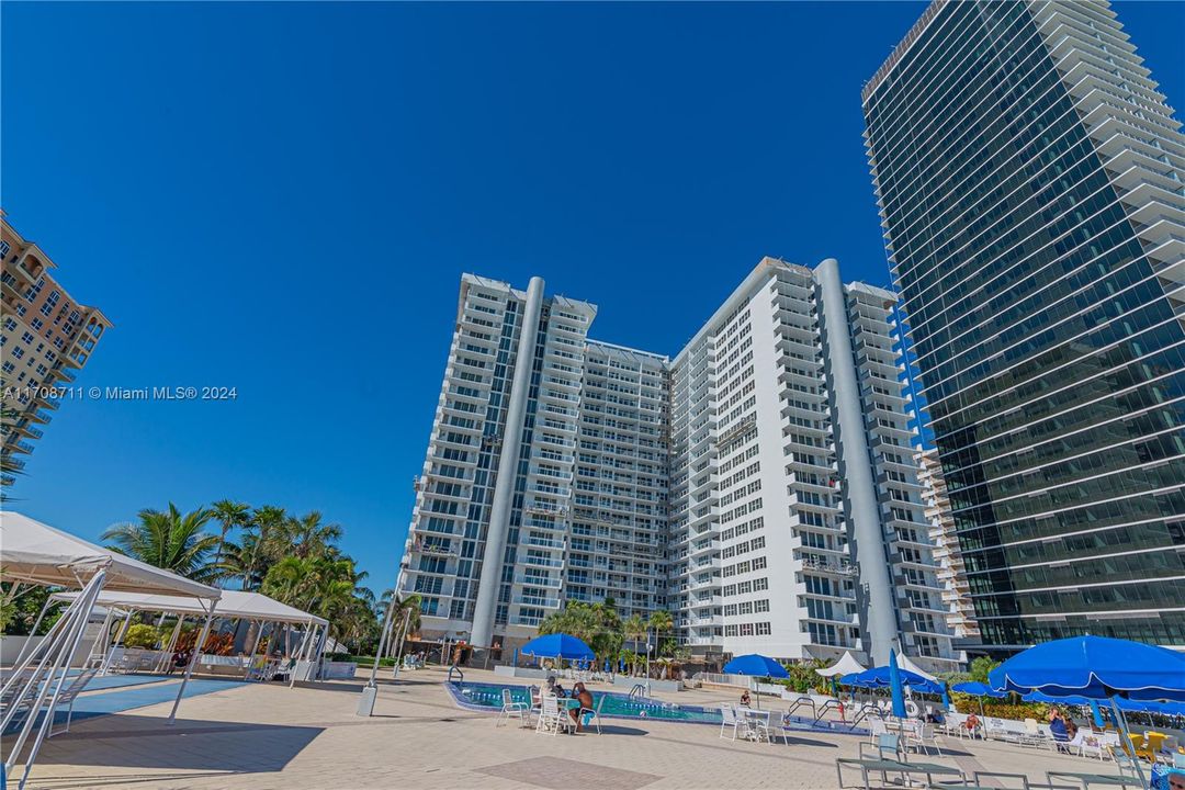
[[[75,600],[78,596],[79,593],[77,592],[59,592],[53,596],[53,599]],[[177,643],[184,616],[190,614],[201,615],[205,612],[197,600],[185,596],[164,596],[143,592],[118,592],[114,590],[104,590],[98,593],[96,599],[100,604],[117,609],[128,616],[135,611],[180,615],[181,617],[178,618],[177,628],[165,647],[167,651],[172,651]],[[248,622],[260,623],[261,628],[256,630],[256,636],[251,644],[246,672],[250,672],[250,660],[255,659],[255,653],[260,643],[260,636],[263,632],[262,625],[264,623],[305,627],[305,635],[300,642],[299,650],[296,651],[297,661],[309,661],[315,664],[325,650],[326,634],[328,632],[329,621],[307,611],[301,611],[300,609],[289,606],[288,604],[280,603],[275,598],[270,598],[261,592],[223,590],[222,598],[218,600],[218,616],[228,619],[245,619]],[[115,646],[113,644],[111,651],[114,650]],[[103,662],[104,672],[109,664],[110,653],[108,653],[107,659]],[[295,676],[296,673],[294,672],[293,681],[295,681]]]

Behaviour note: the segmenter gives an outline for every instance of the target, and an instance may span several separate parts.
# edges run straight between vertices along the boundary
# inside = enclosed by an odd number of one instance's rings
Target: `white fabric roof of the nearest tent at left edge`
[[[0,513],[0,576],[5,582],[78,589],[100,570],[104,590],[217,600],[222,591],[101,548],[20,513]],[[204,610],[203,610],[204,611]]]

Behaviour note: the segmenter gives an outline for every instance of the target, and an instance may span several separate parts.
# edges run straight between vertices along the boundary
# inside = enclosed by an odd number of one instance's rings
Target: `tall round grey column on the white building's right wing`
[[[859,579],[867,612],[861,635],[869,659],[875,666],[882,667],[889,663],[889,649],[898,638],[897,612],[884,552],[880,505],[877,501],[876,481],[872,479],[860,383],[856,374],[852,330],[847,319],[844,282],[839,277],[839,262],[827,258],[820,263],[815,268],[815,282],[822,297],[827,370],[831,373],[828,384],[838,412],[837,449],[844,470],[850,535],[853,555],[860,569]]]

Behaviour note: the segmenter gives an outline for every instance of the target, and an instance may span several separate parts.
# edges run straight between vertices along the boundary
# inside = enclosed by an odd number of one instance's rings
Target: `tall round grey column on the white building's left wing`
[[[532,277],[526,289],[518,354],[514,359],[514,378],[511,380],[510,404],[506,407],[502,452],[498,458],[498,481],[494,484],[494,499],[489,507],[486,550],[481,555],[478,600],[473,608],[473,632],[469,635],[469,643],[474,647],[485,648],[493,643],[494,611],[498,606],[498,590],[501,587],[502,580],[506,531],[510,528],[511,505],[514,500],[519,444],[523,441],[523,420],[526,417],[527,391],[531,387],[531,367],[534,360],[534,343],[542,309],[543,278]]]

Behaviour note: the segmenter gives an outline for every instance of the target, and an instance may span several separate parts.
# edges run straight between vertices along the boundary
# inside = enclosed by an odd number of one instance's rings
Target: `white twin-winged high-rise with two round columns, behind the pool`
[[[510,649],[611,598],[702,654],[949,668],[891,293],[767,258],[672,360],[538,278],[461,290],[399,579],[427,637]]]

